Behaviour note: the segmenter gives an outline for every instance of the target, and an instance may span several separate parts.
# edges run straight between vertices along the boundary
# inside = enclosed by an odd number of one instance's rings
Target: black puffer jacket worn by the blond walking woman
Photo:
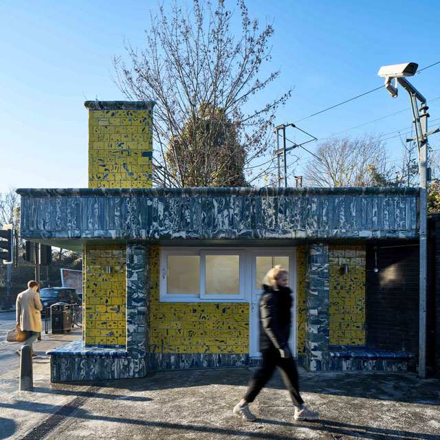
[[[290,333],[292,290],[264,285],[260,299],[260,351],[287,345]]]

